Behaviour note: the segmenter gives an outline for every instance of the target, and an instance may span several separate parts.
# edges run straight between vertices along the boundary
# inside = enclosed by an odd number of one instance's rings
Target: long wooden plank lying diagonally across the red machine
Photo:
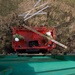
[[[32,29],[32,28],[26,26],[26,25],[23,25],[23,26],[24,26],[26,29],[31,30],[32,32],[34,32],[34,33],[36,33],[36,34],[38,34],[38,35],[40,35],[40,36],[42,36],[42,37],[44,37],[44,38],[46,38],[46,39],[48,39],[48,40],[51,40],[52,42],[56,43],[57,45],[59,45],[59,46],[61,46],[61,47],[64,47],[65,49],[67,48],[67,46],[65,46],[64,44],[62,44],[62,43],[60,43],[60,42],[54,40],[54,39],[52,38],[52,36],[49,37],[49,36],[43,35],[43,34],[41,34],[40,32],[38,32],[38,31],[36,31],[36,30],[34,30],[34,29]]]

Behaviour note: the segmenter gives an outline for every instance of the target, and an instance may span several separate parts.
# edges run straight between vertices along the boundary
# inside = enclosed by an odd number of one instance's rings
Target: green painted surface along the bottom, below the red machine
[[[75,56],[0,56],[0,75],[75,75]]]

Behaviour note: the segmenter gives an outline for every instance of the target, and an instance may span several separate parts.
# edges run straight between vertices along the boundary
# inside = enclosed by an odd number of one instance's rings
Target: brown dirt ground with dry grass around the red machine
[[[27,10],[33,8],[37,0],[10,0],[11,8],[9,8],[9,0],[7,6],[2,7],[0,13],[0,53],[4,52],[4,48],[11,45],[11,31],[12,26],[19,26],[23,18],[18,14],[22,14]],[[57,45],[51,51],[53,54],[75,53],[75,1],[74,0],[42,0],[39,5],[48,2],[49,8],[45,11],[47,15],[38,15],[29,19],[26,23],[28,26],[47,26],[55,27],[57,41],[68,46],[64,49]],[[17,4],[16,4],[17,3]],[[3,10],[4,9],[4,10]],[[6,9],[6,10],[5,10]],[[9,39],[10,38],[10,39]]]

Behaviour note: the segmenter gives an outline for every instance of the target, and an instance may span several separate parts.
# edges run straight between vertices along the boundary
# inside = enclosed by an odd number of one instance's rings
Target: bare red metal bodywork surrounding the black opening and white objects
[[[35,30],[37,30],[38,32],[42,33],[42,34],[46,34],[46,32],[51,32],[52,37],[55,39],[56,38],[56,33],[55,33],[55,29],[54,28],[49,28],[47,29],[46,27],[38,27],[38,28],[33,28]],[[12,36],[12,48],[17,51],[17,50],[31,50],[31,49],[35,49],[35,50],[40,50],[40,49],[45,49],[47,51],[52,50],[53,48],[56,47],[56,44],[51,42],[51,41],[47,41],[46,38],[30,31],[27,30],[23,27],[12,27],[12,35],[21,35],[24,37],[24,39],[21,39],[20,41],[16,42]],[[39,46],[32,46],[29,47],[28,43],[29,41],[34,41],[37,40]]]

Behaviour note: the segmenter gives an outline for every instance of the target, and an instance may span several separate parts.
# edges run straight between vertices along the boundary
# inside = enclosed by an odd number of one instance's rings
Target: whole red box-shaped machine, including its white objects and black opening
[[[56,38],[54,28],[38,27],[34,28],[38,32],[44,35],[51,35],[54,39]],[[24,27],[13,27],[12,28],[12,48],[14,51],[24,52],[50,52],[56,47],[56,44],[48,41],[46,38],[24,28]]]

